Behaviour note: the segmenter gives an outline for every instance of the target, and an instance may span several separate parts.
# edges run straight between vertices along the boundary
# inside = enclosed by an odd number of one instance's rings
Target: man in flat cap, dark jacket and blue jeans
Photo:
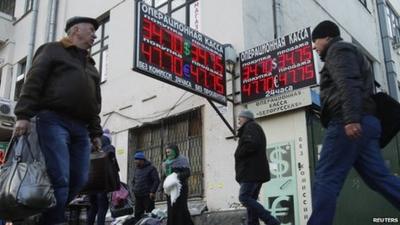
[[[57,205],[43,213],[40,224],[66,224],[64,209],[88,179],[90,141],[101,148],[100,74],[88,49],[96,38],[95,19],[73,17],[67,37],[36,51],[15,107],[14,134],[37,132]]]

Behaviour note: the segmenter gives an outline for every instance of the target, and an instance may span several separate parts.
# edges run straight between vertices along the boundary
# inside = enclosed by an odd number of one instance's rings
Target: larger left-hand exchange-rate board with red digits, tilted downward
[[[223,45],[141,1],[133,70],[226,105]]]

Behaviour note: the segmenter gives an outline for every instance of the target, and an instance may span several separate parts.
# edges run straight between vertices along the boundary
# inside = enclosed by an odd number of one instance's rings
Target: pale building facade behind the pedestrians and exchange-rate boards
[[[396,98],[400,96],[398,0],[144,2],[220,43],[231,44],[237,52],[306,27],[312,29],[322,20],[335,21],[343,38],[358,45],[368,56],[376,88]],[[135,0],[2,0],[0,97],[9,101],[4,104],[12,106],[18,100],[34,51],[43,43],[65,36],[66,20],[77,15],[94,17],[101,23],[91,54],[102,75],[102,125],[112,131],[122,180],[131,181],[136,150],[144,150],[160,168],[165,145],[175,142],[190,159],[191,201],[202,202],[210,211],[240,207],[233,158],[237,142],[215,109],[203,97],[132,70]],[[317,68],[321,68],[318,56],[314,58]],[[235,129],[237,113],[251,107],[240,104],[239,73],[238,64],[227,73],[227,95],[232,101],[227,106],[216,104]],[[317,86],[313,89],[318,92]],[[312,173],[323,133],[314,112],[318,104],[314,105],[257,119],[267,135],[275,178],[264,185],[260,200],[286,224],[303,225],[311,213]],[[4,114],[1,119],[8,121],[9,117]],[[3,139],[9,138],[10,129],[0,128],[5,133]],[[392,157],[392,152],[386,152],[385,157],[390,159],[391,169],[400,173],[399,147],[394,145],[393,156],[397,154],[397,158]],[[351,187],[362,188],[362,181],[356,175],[348,182]],[[344,191],[353,193],[351,188]],[[163,196],[158,199],[162,202]],[[378,206],[364,205],[367,209],[356,210],[356,215],[366,217],[371,211],[379,214],[378,208],[384,208],[388,216],[394,215],[393,208],[384,200],[377,197],[374,201]],[[343,210],[338,209],[340,218],[355,212],[349,212],[345,205],[343,199],[339,205]],[[360,224],[367,224],[365,221]]]

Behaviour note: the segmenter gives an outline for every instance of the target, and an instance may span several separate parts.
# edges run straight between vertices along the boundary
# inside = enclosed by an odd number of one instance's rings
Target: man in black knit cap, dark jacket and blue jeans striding
[[[331,21],[312,32],[313,49],[325,62],[320,71],[321,122],[326,128],[312,190],[308,225],[332,225],[336,199],[350,169],[400,210],[400,179],[382,158],[380,121],[374,116],[374,77],[364,54],[340,37]]]

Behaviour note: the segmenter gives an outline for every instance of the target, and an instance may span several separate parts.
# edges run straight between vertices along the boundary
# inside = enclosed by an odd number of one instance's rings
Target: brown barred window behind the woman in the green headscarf
[[[164,148],[175,143],[180,153],[189,158],[191,176],[189,178],[189,197],[203,197],[203,152],[202,152],[202,119],[201,109],[167,118],[151,125],[130,130],[128,153],[128,183],[132,184],[134,173],[134,157],[136,150],[144,151],[161,172],[161,164],[165,160]],[[165,200],[160,193],[157,200]]]

